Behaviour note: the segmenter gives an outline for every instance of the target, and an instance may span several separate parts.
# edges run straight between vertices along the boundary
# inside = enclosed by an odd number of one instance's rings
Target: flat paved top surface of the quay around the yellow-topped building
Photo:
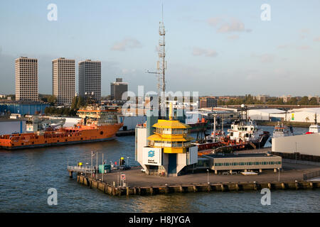
[[[302,180],[303,175],[307,172],[313,172],[320,170],[319,166],[303,165],[293,163],[283,163],[283,170],[280,171],[280,181],[294,181]],[[104,182],[107,184],[117,186],[118,176],[120,173],[126,175],[127,186],[129,187],[156,187],[179,184],[206,184],[208,182],[207,172],[190,173],[188,175],[181,175],[178,177],[159,177],[153,175],[146,175],[141,172],[141,167],[133,167],[132,170],[113,171],[104,175]],[[279,172],[273,170],[263,170],[258,175],[245,176],[238,175],[215,175],[212,170],[209,172],[210,184],[219,182],[277,182]],[[97,176],[97,179],[101,179],[101,175]]]

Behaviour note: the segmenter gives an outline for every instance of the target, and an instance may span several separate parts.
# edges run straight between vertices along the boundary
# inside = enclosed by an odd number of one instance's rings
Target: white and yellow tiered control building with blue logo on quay
[[[171,104],[169,120],[148,114],[144,126],[136,128],[136,160],[147,175],[176,177],[198,162],[190,126],[174,120],[172,112]]]

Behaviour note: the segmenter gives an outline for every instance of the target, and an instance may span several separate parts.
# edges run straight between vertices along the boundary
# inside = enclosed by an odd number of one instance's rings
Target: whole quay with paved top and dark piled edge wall
[[[230,192],[240,190],[260,190],[262,188],[274,189],[316,189],[320,187],[319,181],[303,180],[308,172],[320,170],[311,165],[296,165],[284,163],[283,171],[274,172],[266,170],[259,175],[214,175],[213,172],[197,172],[179,177],[158,177],[146,175],[139,167],[132,170],[114,171],[95,177],[78,175],[77,181],[90,188],[99,189],[112,196],[155,195],[186,192]],[[126,187],[117,187],[119,174],[126,175]],[[209,179],[209,180],[208,180]],[[209,181],[209,182],[208,182]]]

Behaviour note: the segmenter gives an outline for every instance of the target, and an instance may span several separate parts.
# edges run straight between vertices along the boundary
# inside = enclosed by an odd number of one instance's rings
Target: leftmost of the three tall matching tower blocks
[[[38,60],[16,59],[16,100],[38,101]]]

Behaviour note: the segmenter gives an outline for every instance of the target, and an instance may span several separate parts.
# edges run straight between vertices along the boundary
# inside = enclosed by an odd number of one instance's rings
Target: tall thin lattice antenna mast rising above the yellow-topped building
[[[161,112],[165,111],[166,104],[165,104],[165,92],[166,92],[166,80],[165,80],[165,72],[166,72],[166,31],[164,29],[164,5],[162,4],[162,20],[159,22],[159,50],[158,50],[158,56],[159,60],[156,62],[156,72],[149,72],[148,73],[154,73],[157,74],[158,84],[158,95],[160,98],[160,104],[161,104]],[[162,115],[162,113],[161,113]]]

